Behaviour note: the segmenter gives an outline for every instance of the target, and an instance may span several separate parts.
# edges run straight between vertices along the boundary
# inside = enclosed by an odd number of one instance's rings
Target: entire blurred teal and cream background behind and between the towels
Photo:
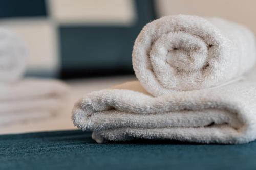
[[[219,16],[256,32],[255,6],[254,0],[1,0],[0,27],[18,33],[28,47],[25,77],[61,79],[72,100],[62,119],[13,125],[0,133],[74,128],[71,109],[83,94],[136,79],[133,43],[154,19]]]

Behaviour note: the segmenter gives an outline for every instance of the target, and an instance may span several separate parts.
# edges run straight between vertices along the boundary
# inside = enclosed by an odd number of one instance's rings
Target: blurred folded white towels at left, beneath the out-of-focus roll
[[[0,84],[0,126],[54,116],[67,94],[67,85],[57,80],[27,78]]]

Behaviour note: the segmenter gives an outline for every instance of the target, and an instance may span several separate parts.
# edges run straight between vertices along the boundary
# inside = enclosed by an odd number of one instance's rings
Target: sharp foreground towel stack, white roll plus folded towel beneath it
[[[256,139],[254,35],[219,18],[166,16],[148,23],[133,49],[139,81],[80,99],[73,122],[98,143]],[[255,70],[256,71],[256,70]]]

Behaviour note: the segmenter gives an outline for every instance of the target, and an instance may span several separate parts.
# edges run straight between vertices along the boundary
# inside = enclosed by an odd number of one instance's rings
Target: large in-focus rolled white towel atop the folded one
[[[253,33],[219,18],[165,16],[148,23],[133,49],[133,68],[154,96],[236,79],[255,63]]]

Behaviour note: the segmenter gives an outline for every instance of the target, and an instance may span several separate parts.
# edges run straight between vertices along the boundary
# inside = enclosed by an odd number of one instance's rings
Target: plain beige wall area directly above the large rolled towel
[[[159,16],[219,16],[243,23],[256,33],[255,0],[156,0],[156,5]]]

